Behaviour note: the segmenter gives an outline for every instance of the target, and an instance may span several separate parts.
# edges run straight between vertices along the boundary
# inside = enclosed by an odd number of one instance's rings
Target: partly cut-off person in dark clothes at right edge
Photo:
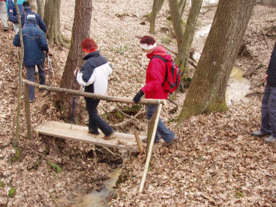
[[[262,98],[262,125],[259,131],[252,132],[255,137],[270,135],[265,143],[276,142],[276,42],[271,54],[267,72],[264,76],[264,96]]]

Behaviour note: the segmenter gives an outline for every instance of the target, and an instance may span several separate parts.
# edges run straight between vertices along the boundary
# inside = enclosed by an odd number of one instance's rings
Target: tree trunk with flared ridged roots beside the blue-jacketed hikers
[[[54,47],[62,45],[69,47],[65,42],[65,38],[60,31],[60,2],[61,0],[47,0],[45,3],[44,22],[47,27],[46,37],[49,45]]]

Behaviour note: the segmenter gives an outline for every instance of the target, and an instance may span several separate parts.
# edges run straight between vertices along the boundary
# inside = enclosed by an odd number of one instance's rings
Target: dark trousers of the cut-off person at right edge
[[[271,134],[276,138],[276,86],[266,84],[262,98],[261,133]]]

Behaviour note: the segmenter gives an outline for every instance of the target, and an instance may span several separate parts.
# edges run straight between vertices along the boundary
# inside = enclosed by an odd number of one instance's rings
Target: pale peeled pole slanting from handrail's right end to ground
[[[151,137],[151,140],[150,140],[150,146],[149,146],[149,150],[147,152],[147,159],[146,159],[146,163],[145,163],[145,168],[144,168],[142,180],[141,180],[140,187],[139,187],[139,193],[141,193],[143,191],[143,188],[144,188],[144,185],[145,185],[145,180],[146,180],[146,176],[147,176],[147,169],[149,168],[150,158],[152,156],[152,148],[153,148],[153,143],[154,143],[154,137],[156,135],[157,125],[158,125],[158,121],[159,121],[159,118],[160,118],[162,106],[163,106],[162,104],[158,105],[157,115],[156,115],[156,119],[155,119],[155,122],[154,122],[153,130],[152,130],[152,137]]]

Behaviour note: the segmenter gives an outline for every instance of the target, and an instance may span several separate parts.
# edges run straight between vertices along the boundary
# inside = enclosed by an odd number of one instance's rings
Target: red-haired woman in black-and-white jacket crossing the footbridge
[[[81,71],[76,68],[74,76],[80,85],[83,85],[83,91],[105,95],[108,87],[108,76],[112,73],[112,68],[106,58],[100,55],[96,49],[97,44],[93,39],[87,38],[81,42],[81,47],[85,53],[83,60],[85,64],[81,66]],[[99,117],[97,106],[99,99],[86,98],[86,108],[89,114],[88,133],[99,135],[99,129],[104,133],[104,139],[109,139],[114,130]]]

